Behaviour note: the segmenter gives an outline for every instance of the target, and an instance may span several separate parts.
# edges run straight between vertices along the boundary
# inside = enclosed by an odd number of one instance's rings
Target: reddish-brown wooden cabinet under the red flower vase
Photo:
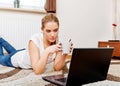
[[[98,47],[114,47],[113,57],[120,57],[120,42],[99,41]]]

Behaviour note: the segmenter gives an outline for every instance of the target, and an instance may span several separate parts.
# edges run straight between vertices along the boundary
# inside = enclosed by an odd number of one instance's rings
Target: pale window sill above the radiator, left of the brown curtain
[[[46,11],[36,10],[36,9],[26,9],[26,8],[7,8],[7,7],[0,7],[2,11],[13,11],[13,12],[24,12],[24,13],[35,13],[35,14],[46,14]]]

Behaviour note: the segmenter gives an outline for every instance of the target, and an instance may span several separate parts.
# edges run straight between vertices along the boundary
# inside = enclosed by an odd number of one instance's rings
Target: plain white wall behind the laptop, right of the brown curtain
[[[112,39],[112,0],[57,0],[61,31],[75,47],[97,47]]]

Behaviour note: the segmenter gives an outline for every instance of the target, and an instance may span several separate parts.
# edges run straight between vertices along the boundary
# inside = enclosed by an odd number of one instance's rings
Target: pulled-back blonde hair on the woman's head
[[[59,20],[58,20],[58,18],[55,16],[55,14],[49,13],[42,19],[42,27],[41,27],[41,29],[42,30],[44,29],[45,24],[47,22],[52,22],[52,21],[56,22],[58,24],[58,27],[59,27]]]

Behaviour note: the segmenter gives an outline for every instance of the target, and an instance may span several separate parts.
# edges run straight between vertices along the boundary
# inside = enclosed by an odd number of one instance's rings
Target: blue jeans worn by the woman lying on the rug
[[[3,48],[7,51],[8,55],[4,55]],[[4,66],[14,67],[11,63],[11,57],[18,51],[24,49],[16,50],[11,44],[9,44],[3,38],[0,38],[0,64]]]

